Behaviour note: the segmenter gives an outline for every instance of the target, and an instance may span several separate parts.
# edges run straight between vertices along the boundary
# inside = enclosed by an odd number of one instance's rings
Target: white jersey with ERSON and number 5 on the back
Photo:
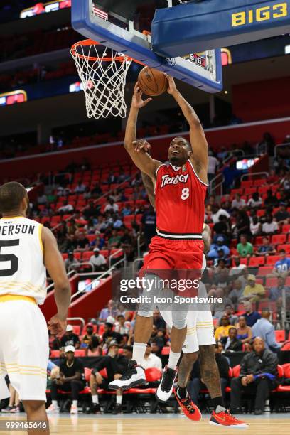
[[[42,227],[21,216],[0,219],[0,295],[31,296],[40,305],[45,301]]]

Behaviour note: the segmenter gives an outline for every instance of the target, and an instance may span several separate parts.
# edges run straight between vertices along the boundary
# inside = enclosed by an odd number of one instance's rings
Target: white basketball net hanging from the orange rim
[[[70,50],[85,92],[87,117],[99,119],[111,114],[124,118],[126,77],[132,59],[110,48],[99,55],[98,48],[100,45],[82,45],[80,41]]]

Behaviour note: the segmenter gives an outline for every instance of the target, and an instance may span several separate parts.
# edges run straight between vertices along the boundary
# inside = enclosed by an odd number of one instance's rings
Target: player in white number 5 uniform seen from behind
[[[70,284],[53,233],[26,218],[28,205],[21,184],[0,187],[0,399],[10,395],[4,380],[8,374],[28,421],[43,422],[42,429],[33,429],[38,435],[49,434],[45,411],[48,328],[53,335],[65,331]],[[54,281],[58,307],[48,326],[38,308],[45,301],[46,269]]]

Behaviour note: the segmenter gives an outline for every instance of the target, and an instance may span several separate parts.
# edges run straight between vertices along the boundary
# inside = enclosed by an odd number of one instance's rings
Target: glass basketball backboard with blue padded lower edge
[[[178,0],[73,0],[73,28],[105,47],[129,55],[144,65],[164,71],[205,92],[222,90],[220,50],[165,58],[151,47],[151,21],[156,9]],[[178,38],[178,35],[176,35]]]

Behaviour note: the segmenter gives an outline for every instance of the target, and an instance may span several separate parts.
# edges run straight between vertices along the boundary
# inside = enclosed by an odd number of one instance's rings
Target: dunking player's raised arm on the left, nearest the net
[[[151,101],[151,98],[142,100],[142,91],[136,83],[134,94],[131,103],[131,109],[127,120],[126,134],[124,139],[124,147],[131,156],[137,168],[146,173],[149,177],[155,179],[156,169],[161,165],[160,161],[154,160],[146,151],[136,149],[136,124],[139,114],[139,109],[145,107]]]

